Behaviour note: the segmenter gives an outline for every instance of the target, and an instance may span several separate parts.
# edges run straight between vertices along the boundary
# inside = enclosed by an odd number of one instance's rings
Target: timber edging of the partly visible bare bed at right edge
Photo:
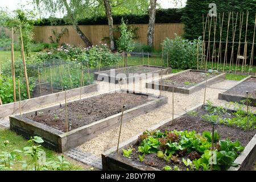
[[[246,78],[243,78],[243,80],[238,81],[232,88],[236,87],[237,85],[240,85],[243,81],[248,80],[249,78],[256,78],[255,76],[247,76]],[[230,88],[230,89],[232,89]],[[229,90],[230,90],[229,89]],[[218,99],[219,100],[224,100],[224,101],[228,101],[228,102],[240,102],[242,100],[246,100],[246,97],[242,97],[242,96],[237,96],[236,94],[228,94],[226,92],[228,92],[229,90],[226,90],[224,93],[218,93]],[[251,100],[251,104],[250,106],[255,107],[256,105],[256,99],[252,99]]]

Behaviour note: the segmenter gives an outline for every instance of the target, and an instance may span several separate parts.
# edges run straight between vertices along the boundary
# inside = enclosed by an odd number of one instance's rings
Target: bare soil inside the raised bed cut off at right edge
[[[256,98],[256,78],[251,77],[246,81],[241,82],[237,86],[229,89],[225,94],[246,97],[246,91],[249,92],[249,97]]]

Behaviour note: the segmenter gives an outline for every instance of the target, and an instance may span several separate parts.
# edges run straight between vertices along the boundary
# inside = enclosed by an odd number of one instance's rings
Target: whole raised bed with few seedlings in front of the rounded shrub
[[[146,88],[164,90],[172,92],[172,83],[174,82],[174,92],[192,94],[205,87],[206,75],[204,71],[196,71],[187,69],[185,71],[175,73],[174,75],[162,79],[154,80],[146,83]],[[212,85],[225,80],[225,73],[210,73],[207,85]]]

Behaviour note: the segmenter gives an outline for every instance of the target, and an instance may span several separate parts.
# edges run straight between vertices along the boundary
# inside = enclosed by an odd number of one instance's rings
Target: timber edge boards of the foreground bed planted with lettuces
[[[148,130],[159,130],[162,129],[164,126],[172,125],[174,122],[179,120],[180,118],[184,117],[185,114],[187,114],[189,111],[198,110],[201,109],[203,105],[199,104],[195,107],[192,107],[187,112],[182,113],[179,116],[176,116],[174,120],[172,119],[166,119],[157,125],[151,127]],[[228,112],[232,110],[228,109]],[[125,142],[122,142],[119,144],[118,148],[118,155],[121,155],[122,148],[133,146],[138,142],[138,137],[142,135],[143,133],[139,133],[138,135],[135,135],[134,137],[126,140]],[[250,140],[249,143],[247,143],[245,149],[243,152],[234,160],[234,163],[237,163],[237,167],[230,167],[228,171],[243,171],[251,167],[254,160],[256,158],[256,134],[254,137]],[[110,148],[109,150],[103,152],[101,154],[102,159],[102,169],[103,170],[135,170],[135,171],[144,171],[144,170],[151,170],[151,171],[159,171],[159,169],[147,166],[145,164],[138,164],[133,162],[132,160],[119,157],[117,156],[117,147]]]

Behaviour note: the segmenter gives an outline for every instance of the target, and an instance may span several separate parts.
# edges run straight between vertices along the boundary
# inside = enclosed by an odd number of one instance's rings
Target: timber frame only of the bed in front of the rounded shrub
[[[162,80],[164,81],[166,79],[171,79],[172,77],[179,76],[180,74],[184,74],[184,73],[188,73],[188,72],[206,73],[204,71],[197,71],[197,70],[187,69],[185,71],[175,73],[174,75],[164,77]],[[226,73],[221,73],[221,74],[217,74],[216,76],[214,76],[212,78],[209,78],[208,81],[207,81],[207,85],[212,85],[212,84],[215,84],[217,82],[225,80],[225,74]],[[190,86],[189,88],[176,86],[174,84],[174,92],[184,93],[184,94],[192,94],[194,92],[197,92],[197,91],[203,89],[205,87],[205,83],[206,83],[206,81],[202,81],[202,82],[199,82],[196,85]],[[162,84],[160,84],[160,79],[146,83],[146,88],[156,89],[156,90],[161,90],[162,89],[163,91],[172,92],[172,85],[164,85],[164,84],[162,85]]]

